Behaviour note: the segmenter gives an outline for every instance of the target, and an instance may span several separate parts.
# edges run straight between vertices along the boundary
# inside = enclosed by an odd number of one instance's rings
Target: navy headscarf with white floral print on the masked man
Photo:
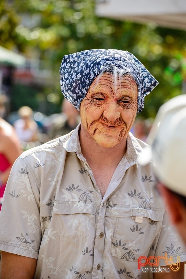
[[[144,108],[144,98],[158,81],[130,52],[117,49],[90,49],[65,55],[61,67],[61,91],[64,97],[80,110],[81,101],[94,81],[108,65],[126,70],[138,86],[138,112]]]

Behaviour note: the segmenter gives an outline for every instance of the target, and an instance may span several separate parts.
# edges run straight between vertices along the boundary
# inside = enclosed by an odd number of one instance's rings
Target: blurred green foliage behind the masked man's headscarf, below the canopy
[[[30,26],[22,22],[26,15]],[[28,104],[46,114],[59,112],[62,101],[59,67],[64,55],[84,49],[122,49],[133,53],[159,81],[145,98],[141,116],[155,117],[162,103],[185,93],[186,31],[100,18],[93,0],[14,0],[0,4],[1,46],[28,58],[35,53],[52,70],[53,83],[42,88],[13,89],[12,109]],[[30,97],[30,95],[32,97]],[[53,102],[47,96],[54,94]]]

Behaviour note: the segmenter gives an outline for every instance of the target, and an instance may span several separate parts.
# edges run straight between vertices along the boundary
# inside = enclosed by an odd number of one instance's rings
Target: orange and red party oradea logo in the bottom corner
[[[159,261],[164,260],[165,266],[160,266]],[[148,266],[148,267],[147,267]],[[167,257],[167,253],[165,253],[165,256],[140,256],[138,258],[138,269],[141,269],[142,272],[148,272],[151,271],[152,273],[158,273],[158,272],[169,272],[170,269],[173,271],[178,271],[180,268],[180,257],[177,256],[177,262],[173,261],[173,257]]]

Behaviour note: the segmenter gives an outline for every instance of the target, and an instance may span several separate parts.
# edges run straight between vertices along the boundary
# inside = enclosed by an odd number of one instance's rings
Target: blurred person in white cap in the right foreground
[[[148,143],[152,147],[140,163],[147,164],[153,158],[158,189],[167,201],[171,222],[186,243],[186,95],[161,106]]]

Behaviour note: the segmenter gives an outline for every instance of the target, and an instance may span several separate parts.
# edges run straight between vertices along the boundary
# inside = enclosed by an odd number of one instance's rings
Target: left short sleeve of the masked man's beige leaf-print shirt
[[[18,158],[10,172],[0,213],[0,250],[38,257],[41,243],[39,185]]]

